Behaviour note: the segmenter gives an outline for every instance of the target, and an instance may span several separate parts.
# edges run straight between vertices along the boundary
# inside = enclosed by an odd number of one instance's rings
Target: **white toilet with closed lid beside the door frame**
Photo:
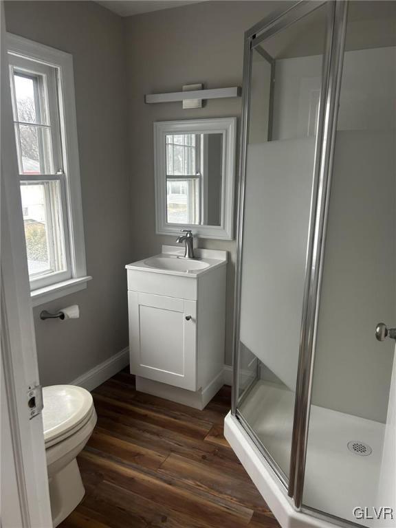
[[[43,404],[52,522],[56,527],[85,494],[76,456],[91,436],[97,417],[91,394],[74,385],[44,387]]]

